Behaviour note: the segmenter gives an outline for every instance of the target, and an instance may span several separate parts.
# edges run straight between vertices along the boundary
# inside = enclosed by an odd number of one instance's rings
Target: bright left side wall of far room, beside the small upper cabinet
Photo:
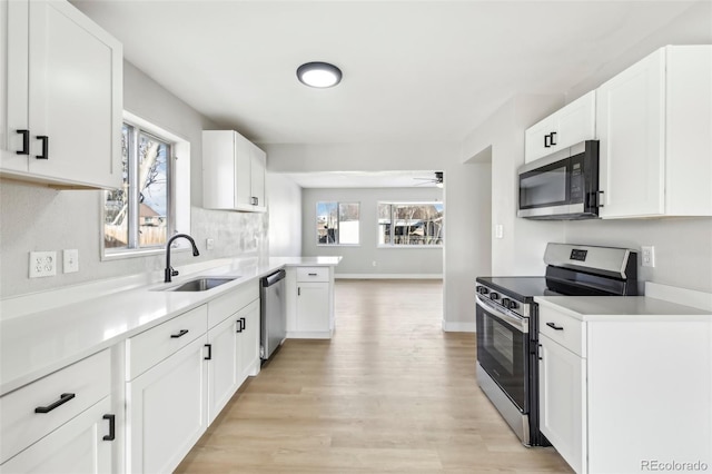
[[[269,157],[267,157],[269,167]],[[291,179],[267,172],[269,256],[301,256],[301,188]]]

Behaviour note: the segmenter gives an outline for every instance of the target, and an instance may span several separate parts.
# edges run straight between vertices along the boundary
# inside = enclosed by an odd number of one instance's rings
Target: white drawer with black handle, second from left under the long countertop
[[[199,306],[126,342],[126,379],[131,381],[207,332],[207,305]]]

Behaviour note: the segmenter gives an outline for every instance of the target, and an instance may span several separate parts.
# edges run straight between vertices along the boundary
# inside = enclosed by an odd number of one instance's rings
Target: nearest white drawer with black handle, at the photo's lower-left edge
[[[0,398],[0,463],[72,419],[110,389],[111,357],[106,349]]]

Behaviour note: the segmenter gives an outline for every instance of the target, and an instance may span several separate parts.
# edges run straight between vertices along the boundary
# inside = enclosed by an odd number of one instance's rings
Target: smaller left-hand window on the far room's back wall
[[[358,245],[358,203],[317,203],[317,245]]]

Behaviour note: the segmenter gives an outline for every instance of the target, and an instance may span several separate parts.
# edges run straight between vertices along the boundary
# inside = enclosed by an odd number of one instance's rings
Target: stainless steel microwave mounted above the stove
[[[518,217],[574,220],[599,217],[599,141],[586,140],[517,170]]]

